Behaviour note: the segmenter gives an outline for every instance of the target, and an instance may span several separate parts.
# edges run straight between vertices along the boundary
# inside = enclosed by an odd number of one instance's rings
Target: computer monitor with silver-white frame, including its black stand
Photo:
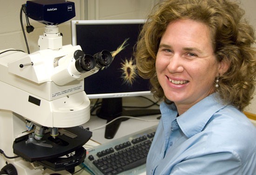
[[[94,55],[108,50],[113,61],[107,68],[84,79],[84,90],[89,99],[102,99],[97,116],[107,122],[119,116],[159,114],[158,109],[125,110],[122,98],[149,95],[150,84],[136,70],[134,46],[144,20],[73,20],[72,44],[80,45],[85,54]],[[106,126],[105,138],[113,138],[124,119]]]

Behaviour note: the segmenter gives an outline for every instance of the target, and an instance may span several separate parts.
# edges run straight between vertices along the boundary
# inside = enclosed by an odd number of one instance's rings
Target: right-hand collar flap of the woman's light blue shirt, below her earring
[[[187,137],[201,132],[214,113],[225,107],[216,93],[190,107],[188,111],[177,117],[177,123]]]

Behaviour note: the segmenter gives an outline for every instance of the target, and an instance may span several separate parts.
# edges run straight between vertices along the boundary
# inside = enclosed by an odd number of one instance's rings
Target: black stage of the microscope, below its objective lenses
[[[45,141],[44,144],[52,147],[27,143],[28,135],[16,138],[13,142],[13,152],[28,162],[36,161],[54,171],[74,168],[84,161],[86,150],[82,146],[92,137],[92,132],[82,126],[62,128],[59,132],[61,134],[56,138],[47,132],[41,139]],[[72,156],[69,156],[70,153]]]

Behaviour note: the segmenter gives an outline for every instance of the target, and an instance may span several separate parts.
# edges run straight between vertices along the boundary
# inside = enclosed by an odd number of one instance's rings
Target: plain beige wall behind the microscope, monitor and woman
[[[70,0],[75,2],[76,17],[83,19],[143,19],[157,0]],[[256,28],[256,0],[241,0],[246,16]],[[20,8],[26,0],[0,0],[0,50],[19,49],[27,52],[20,25]],[[37,41],[43,34],[44,25],[30,19],[35,27],[32,33],[26,33],[30,52],[38,50]],[[26,24],[23,14],[23,24]],[[26,26],[24,26],[26,27]],[[70,21],[59,25],[63,33],[63,45],[71,44]],[[256,95],[247,108],[256,114]]]

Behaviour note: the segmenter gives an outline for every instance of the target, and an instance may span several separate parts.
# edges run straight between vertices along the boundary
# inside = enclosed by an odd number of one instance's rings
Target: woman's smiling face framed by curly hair
[[[155,67],[166,98],[175,103],[180,115],[214,93],[221,62],[214,55],[207,25],[190,19],[169,23]]]

